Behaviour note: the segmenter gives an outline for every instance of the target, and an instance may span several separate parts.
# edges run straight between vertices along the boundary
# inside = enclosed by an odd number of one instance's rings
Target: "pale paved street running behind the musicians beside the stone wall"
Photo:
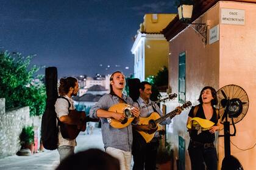
[[[89,148],[104,149],[102,143],[101,129],[94,128],[93,134],[82,132],[77,137],[77,147],[75,152],[83,151]],[[17,156],[5,157],[0,159],[0,169],[26,169],[26,170],[53,170],[59,165],[58,151],[40,152],[32,156]]]

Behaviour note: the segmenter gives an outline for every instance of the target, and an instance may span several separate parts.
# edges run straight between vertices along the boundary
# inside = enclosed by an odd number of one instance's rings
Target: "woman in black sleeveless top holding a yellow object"
[[[219,131],[218,110],[213,107],[218,103],[216,91],[213,87],[206,86],[201,90],[199,105],[191,108],[188,114],[187,127],[190,132],[191,169],[200,170],[217,169],[217,155],[215,149],[215,132]]]

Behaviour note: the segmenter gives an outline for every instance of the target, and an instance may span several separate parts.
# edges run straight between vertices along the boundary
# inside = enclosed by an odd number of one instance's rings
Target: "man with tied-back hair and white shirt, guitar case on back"
[[[59,95],[62,98],[58,98],[55,103],[55,111],[57,113],[57,117],[59,118],[59,123],[74,124],[77,126],[77,128],[82,127],[83,121],[80,119],[73,120],[68,116],[69,110],[74,110],[74,101],[71,99],[71,97],[76,96],[78,90],[79,87],[76,78],[68,77],[60,79]],[[70,140],[63,138],[60,129],[58,136],[58,152],[60,154],[60,161],[62,161],[66,156],[74,154],[76,139]]]

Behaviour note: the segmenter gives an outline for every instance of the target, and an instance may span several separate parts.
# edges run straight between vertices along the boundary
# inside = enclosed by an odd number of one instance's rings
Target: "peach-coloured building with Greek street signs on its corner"
[[[243,120],[235,124],[236,135],[231,137],[231,154],[244,169],[256,169],[256,4],[255,1],[197,1],[191,21],[205,23],[206,29],[196,24],[182,24],[176,18],[163,30],[169,41],[169,86],[179,94],[168,108],[197,99],[204,86],[216,90],[228,84],[242,87],[249,97],[249,109]],[[175,29],[174,29],[175,27]],[[203,30],[202,30],[203,29]],[[190,169],[188,155],[189,135],[187,118],[189,110],[174,117],[169,140],[174,146],[174,157],[184,160]],[[230,126],[230,133],[233,127]],[[220,131],[219,134],[223,134]],[[180,154],[180,141],[185,151]],[[219,169],[224,158],[224,138],[216,135]],[[176,168],[176,166],[174,166]]]

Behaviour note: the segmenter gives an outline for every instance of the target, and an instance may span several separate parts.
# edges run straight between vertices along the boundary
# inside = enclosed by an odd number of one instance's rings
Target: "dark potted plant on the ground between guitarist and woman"
[[[166,142],[165,145],[157,151],[157,168],[160,170],[172,169],[173,150],[171,144]]]

